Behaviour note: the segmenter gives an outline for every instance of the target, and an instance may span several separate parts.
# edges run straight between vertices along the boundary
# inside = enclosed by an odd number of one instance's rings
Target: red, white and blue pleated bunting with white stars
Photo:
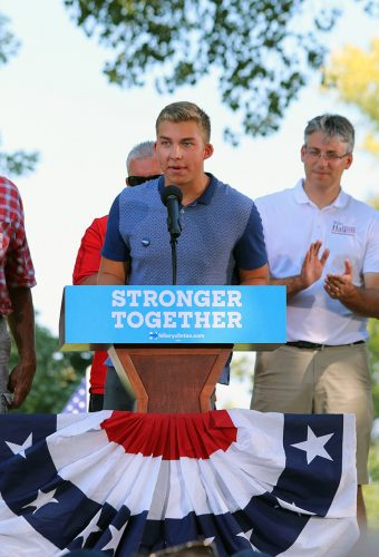
[[[354,417],[0,417],[0,556],[130,557],[195,539],[344,556],[358,537]]]

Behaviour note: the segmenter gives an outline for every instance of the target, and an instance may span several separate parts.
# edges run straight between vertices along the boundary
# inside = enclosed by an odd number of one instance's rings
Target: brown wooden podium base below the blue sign
[[[232,349],[115,344],[108,353],[123,384],[129,383],[135,393],[137,412],[177,413],[211,409],[211,394]]]

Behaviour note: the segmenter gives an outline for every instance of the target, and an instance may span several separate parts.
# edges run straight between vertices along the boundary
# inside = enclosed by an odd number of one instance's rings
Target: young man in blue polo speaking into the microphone
[[[213,154],[208,116],[192,102],[165,107],[156,120],[163,176],[125,188],[108,218],[98,284],[172,284],[164,188],[181,188],[183,232],[177,284],[266,284],[268,260],[254,203],[204,172]],[[227,383],[224,370],[220,382]]]

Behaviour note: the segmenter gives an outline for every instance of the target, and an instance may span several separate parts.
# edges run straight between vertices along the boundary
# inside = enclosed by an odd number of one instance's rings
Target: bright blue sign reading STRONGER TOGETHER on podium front
[[[65,350],[284,342],[284,286],[65,287]]]

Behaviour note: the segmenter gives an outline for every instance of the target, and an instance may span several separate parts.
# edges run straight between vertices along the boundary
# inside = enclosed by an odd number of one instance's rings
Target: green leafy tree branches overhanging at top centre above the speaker
[[[371,14],[377,0],[360,1]],[[111,49],[110,82],[173,92],[204,76],[218,81],[222,101],[252,136],[279,128],[291,100],[323,62],[323,33],[341,1],[311,0],[65,0],[88,36]],[[313,16],[312,16],[313,14]],[[307,29],[307,30],[304,30]],[[237,135],[225,129],[233,143]]]

